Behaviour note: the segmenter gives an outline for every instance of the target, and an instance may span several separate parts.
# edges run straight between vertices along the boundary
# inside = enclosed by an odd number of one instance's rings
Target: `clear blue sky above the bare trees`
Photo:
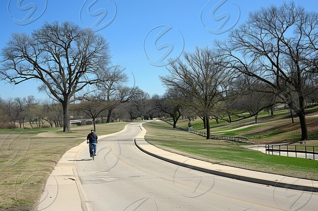
[[[229,28],[243,23],[249,12],[283,2],[4,0],[0,3],[3,26],[0,49],[14,32],[30,33],[45,21],[73,21],[83,27],[90,26],[107,38],[112,61],[126,68],[130,86],[133,86],[135,77],[136,86],[150,95],[161,95],[165,88],[158,76],[167,74],[164,65],[168,58],[177,57],[182,51],[193,51],[195,46],[211,46],[214,39],[226,38]],[[298,0],[295,3],[307,11],[318,10],[316,0]],[[225,21],[226,17],[228,21]],[[0,81],[0,96],[6,99],[34,95],[45,99],[46,95],[37,90],[39,85],[35,80],[16,86]]]

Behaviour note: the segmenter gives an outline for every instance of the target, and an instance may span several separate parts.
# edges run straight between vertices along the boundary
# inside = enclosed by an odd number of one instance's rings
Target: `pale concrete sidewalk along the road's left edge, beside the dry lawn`
[[[101,140],[103,138],[122,133],[125,130],[126,126],[123,130],[117,133],[99,136],[98,138]],[[89,210],[89,202],[86,200],[85,193],[82,190],[81,183],[76,172],[78,154],[84,149],[88,150],[86,138],[84,139],[85,141],[83,143],[73,147],[63,154],[54,167],[53,172],[50,174],[45,184],[45,190],[41,196],[38,210]]]

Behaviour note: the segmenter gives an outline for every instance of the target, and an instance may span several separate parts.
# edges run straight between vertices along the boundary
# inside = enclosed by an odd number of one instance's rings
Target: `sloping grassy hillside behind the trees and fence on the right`
[[[318,114],[318,107],[308,108],[306,113],[309,138],[318,140],[318,116],[313,116]],[[234,119],[232,117],[232,120]],[[257,124],[254,117],[232,123],[225,120],[219,120],[219,123],[216,123],[215,120],[211,120],[210,128],[214,135],[240,136],[249,138],[251,142],[255,143],[290,143],[299,141],[301,137],[298,117],[294,117],[294,121],[295,123],[292,123],[289,110],[284,109],[275,111],[274,115],[261,112]],[[206,132],[203,121],[199,117],[191,122],[194,130]],[[179,119],[177,125],[187,128],[188,119]]]

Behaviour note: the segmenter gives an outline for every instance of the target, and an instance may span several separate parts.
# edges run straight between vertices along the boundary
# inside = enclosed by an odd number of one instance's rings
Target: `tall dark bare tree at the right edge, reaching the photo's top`
[[[301,140],[309,139],[305,98],[317,89],[317,25],[316,13],[284,3],[250,13],[227,41],[218,43],[231,68],[266,83],[296,112]]]

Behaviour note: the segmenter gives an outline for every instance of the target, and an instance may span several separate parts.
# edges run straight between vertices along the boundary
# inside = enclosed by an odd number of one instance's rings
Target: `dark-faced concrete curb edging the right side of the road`
[[[145,134],[145,132],[144,132],[145,129],[143,130],[142,128],[140,127],[140,129],[143,131],[143,134]],[[139,150],[141,150],[142,152],[144,152],[144,153],[146,153],[148,155],[151,155],[151,156],[156,157],[158,159],[164,160],[166,162],[173,163],[175,165],[187,167],[187,168],[190,168],[192,170],[197,170],[197,171],[208,173],[208,174],[212,174],[212,175],[217,175],[217,176],[231,178],[231,179],[245,181],[245,182],[258,183],[258,184],[262,184],[262,185],[268,185],[268,186],[280,187],[280,188],[288,188],[288,189],[293,189],[293,190],[318,192],[318,187],[312,187],[312,186],[310,187],[310,186],[304,186],[304,185],[296,185],[296,184],[290,184],[290,183],[283,183],[283,182],[276,182],[276,181],[269,181],[269,180],[264,180],[264,179],[240,176],[240,175],[226,173],[226,172],[219,172],[219,171],[215,171],[215,170],[209,170],[207,168],[203,168],[203,167],[199,167],[199,166],[195,166],[195,165],[185,164],[185,163],[182,163],[182,162],[179,162],[179,161],[176,161],[176,160],[169,159],[167,157],[163,157],[163,156],[154,154],[152,152],[149,152],[149,151],[143,149],[141,146],[138,145],[138,143],[136,141],[137,137],[135,137],[134,143],[135,143],[136,147]],[[144,139],[144,137],[142,138],[141,136],[139,136],[137,139],[139,139],[140,141],[146,141]]]

